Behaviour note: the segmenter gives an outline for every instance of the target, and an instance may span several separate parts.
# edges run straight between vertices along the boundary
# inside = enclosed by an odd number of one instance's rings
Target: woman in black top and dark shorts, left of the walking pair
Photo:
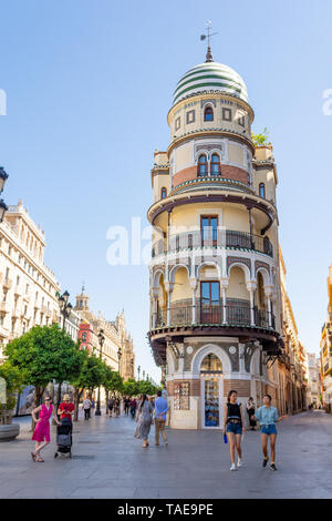
[[[242,466],[242,450],[241,450],[241,437],[245,433],[245,418],[243,409],[241,403],[237,400],[238,392],[236,390],[230,390],[227,397],[227,405],[225,407],[224,415],[224,435],[227,435],[229,442],[230,460],[231,467],[230,470],[237,470],[237,467]],[[235,452],[238,453],[238,463],[235,462]]]

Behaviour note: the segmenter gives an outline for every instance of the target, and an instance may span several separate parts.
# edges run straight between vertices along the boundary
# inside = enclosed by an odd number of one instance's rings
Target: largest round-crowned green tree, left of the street
[[[9,362],[20,371],[23,385],[35,388],[35,403],[50,381],[70,381],[80,374],[82,357],[79,344],[58,324],[34,326],[7,345]]]

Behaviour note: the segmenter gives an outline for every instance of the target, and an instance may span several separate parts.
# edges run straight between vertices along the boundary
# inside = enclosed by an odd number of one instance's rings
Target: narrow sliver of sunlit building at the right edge
[[[328,276],[328,318],[321,333],[321,381],[324,408],[332,412],[332,265]]]

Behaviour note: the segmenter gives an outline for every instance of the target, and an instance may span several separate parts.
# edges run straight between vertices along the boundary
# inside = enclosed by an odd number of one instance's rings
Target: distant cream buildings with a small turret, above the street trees
[[[97,316],[90,310],[89,295],[84,287],[76,296],[75,311],[82,317],[79,338],[82,349],[90,354],[101,355],[103,360],[127,380],[135,377],[135,354],[133,339],[126,331],[124,311],[118,314],[114,321],[106,320],[100,311]],[[101,346],[98,334],[103,330],[105,340]]]

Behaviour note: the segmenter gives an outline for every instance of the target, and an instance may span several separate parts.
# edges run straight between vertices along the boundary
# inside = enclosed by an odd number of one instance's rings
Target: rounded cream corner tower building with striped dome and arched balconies
[[[221,428],[230,389],[277,396],[277,171],[252,121],[243,80],[208,50],[177,83],[170,143],[155,151],[148,337],[174,428]]]

